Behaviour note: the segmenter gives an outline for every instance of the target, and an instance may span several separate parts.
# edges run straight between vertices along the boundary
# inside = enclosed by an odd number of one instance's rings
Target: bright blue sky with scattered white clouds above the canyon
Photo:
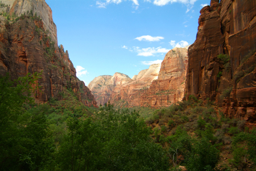
[[[115,72],[133,77],[161,62],[174,47],[196,39],[198,18],[210,0],[46,0],[63,44],[89,84]]]

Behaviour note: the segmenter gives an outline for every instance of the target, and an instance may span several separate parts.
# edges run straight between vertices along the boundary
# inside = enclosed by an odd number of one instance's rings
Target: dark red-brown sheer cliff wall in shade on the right
[[[196,41],[188,49],[186,98],[210,98],[225,115],[255,122],[256,1],[212,0],[200,13]]]

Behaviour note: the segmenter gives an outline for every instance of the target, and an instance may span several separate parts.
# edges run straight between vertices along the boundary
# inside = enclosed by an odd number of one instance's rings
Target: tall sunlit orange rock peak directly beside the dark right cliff
[[[179,102],[184,96],[188,47],[169,51],[161,64],[158,79],[143,92],[140,106],[162,107]]]

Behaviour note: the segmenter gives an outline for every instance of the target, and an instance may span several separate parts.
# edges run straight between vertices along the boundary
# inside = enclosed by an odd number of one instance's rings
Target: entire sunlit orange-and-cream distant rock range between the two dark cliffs
[[[125,74],[99,76],[88,85],[98,104],[106,102],[126,107],[170,106],[184,96],[188,47],[174,48],[162,64],[153,64],[130,79]],[[110,81],[112,80],[112,81]],[[117,80],[117,81],[114,81]]]

